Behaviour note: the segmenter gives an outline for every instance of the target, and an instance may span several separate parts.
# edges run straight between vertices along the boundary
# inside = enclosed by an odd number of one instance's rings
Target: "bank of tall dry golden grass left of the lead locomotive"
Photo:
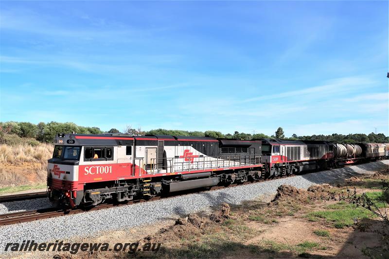
[[[36,185],[46,182],[47,160],[53,145],[0,145],[0,187]]]

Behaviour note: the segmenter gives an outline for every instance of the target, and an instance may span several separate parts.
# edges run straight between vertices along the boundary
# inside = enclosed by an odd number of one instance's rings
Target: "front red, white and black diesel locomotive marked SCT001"
[[[58,134],[54,144],[47,183],[55,205],[254,181],[262,172],[261,143],[254,140]]]

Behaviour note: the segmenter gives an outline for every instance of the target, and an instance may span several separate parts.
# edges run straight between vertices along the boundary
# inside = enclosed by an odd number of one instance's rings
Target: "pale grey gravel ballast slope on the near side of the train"
[[[128,229],[141,224],[152,224],[177,215],[185,215],[200,210],[208,210],[222,202],[241,203],[261,195],[273,194],[282,184],[307,189],[314,184],[332,183],[352,175],[374,173],[388,167],[389,160],[351,166],[336,170],[309,173],[238,186],[222,190],[187,194],[159,201],[151,201],[124,207],[115,207],[98,211],[39,220],[35,222],[0,226],[0,251],[7,242],[22,242],[35,240],[44,242],[64,240],[73,236],[88,237],[99,231]]]

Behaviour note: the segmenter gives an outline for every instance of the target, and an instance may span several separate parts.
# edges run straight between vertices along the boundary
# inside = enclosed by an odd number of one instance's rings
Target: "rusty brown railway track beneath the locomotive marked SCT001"
[[[284,177],[293,177],[296,176],[295,174],[286,176],[283,175],[281,177],[277,177],[274,179],[281,179]],[[170,197],[178,196],[178,195],[188,195],[192,193],[200,193],[200,192],[205,192],[205,191],[211,191],[211,190],[220,190],[220,189],[225,189],[225,188],[231,188],[231,187],[236,187],[236,186],[242,186],[242,185],[248,185],[248,184],[253,184],[253,183],[258,183],[258,182],[263,182],[263,181],[271,181],[273,179],[262,179],[258,180],[255,182],[244,182],[242,184],[231,184],[229,186],[214,186],[211,187],[209,190],[187,190],[187,191],[180,191],[177,192],[176,194],[170,194],[166,196],[158,196],[158,197],[153,197],[150,199],[138,199],[138,200],[133,200],[133,201],[128,201],[126,203],[118,203],[118,204],[101,204],[96,207],[92,207],[90,209],[81,209],[81,208],[75,208],[75,209],[57,209],[54,207],[47,207],[47,208],[41,208],[41,209],[34,209],[34,210],[27,210],[27,211],[21,211],[21,212],[15,212],[15,213],[8,213],[8,214],[2,214],[0,215],[0,225],[10,225],[10,224],[18,224],[18,223],[23,223],[23,222],[30,222],[30,221],[35,221],[35,220],[40,220],[40,219],[48,219],[48,218],[54,218],[54,217],[60,217],[60,216],[65,216],[65,215],[73,215],[77,213],[86,213],[88,211],[93,211],[93,210],[100,210],[100,209],[106,209],[106,208],[111,208],[111,207],[121,207],[121,206],[126,206],[126,205],[131,205],[131,204],[136,204],[136,203],[142,203],[142,202],[148,202],[148,201],[155,201],[155,200],[160,200],[160,199],[167,199]]]

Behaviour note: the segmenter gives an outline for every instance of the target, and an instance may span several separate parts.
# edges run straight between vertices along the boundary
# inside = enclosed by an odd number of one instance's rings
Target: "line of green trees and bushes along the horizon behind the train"
[[[236,138],[242,140],[250,140],[253,138],[281,138],[281,139],[301,139],[301,140],[326,140],[336,143],[358,143],[358,142],[371,142],[371,143],[389,143],[389,137],[386,137],[382,133],[370,133],[366,134],[331,134],[331,135],[312,135],[312,136],[297,136],[293,134],[291,137],[286,137],[283,132],[283,128],[279,127],[273,135],[268,136],[263,133],[243,133],[235,131],[233,134],[223,134],[220,131],[185,131],[185,130],[167,130],[167,129],[154,129],[150,131],[142,131],[141,128],[135,129],[131,125],[126,125],[122,131],[112,128],[107,132],[100,130],[98,127],[84,127],[79,126],[73,122],[56,122],[51,121],[48,123],[39,122],[34,124],[31,122],[15,122],[7,121],[0,122],[0,141],[15,142],[17,138],[28,138],[31,141],[39,142],[52,142],[55,135],[64,132],[78,134],[101,134],[101,133],[124,133],[129,135],[173,135],[173,136],[195,136],[195,137],[211,137],[211,138]],[[8,140],[7,140],[8,139]],[[11,139],[11,140],[10,140]]]

